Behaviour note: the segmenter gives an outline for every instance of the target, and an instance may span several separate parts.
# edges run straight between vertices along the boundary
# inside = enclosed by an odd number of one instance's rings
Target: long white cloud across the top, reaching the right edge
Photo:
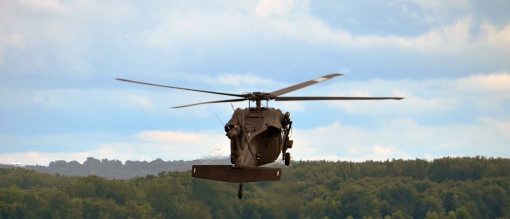
[[[439,2],[421,5],[426,8],[450,7]],[[292,8],[302,10],[291,10]],[[395,47],[427,54],[476,52],[480,49],[484,52],[498,49],[506,54],[510,51],[507,33],[510,24],[498,30],[495,26],[484,23],[481,25],[483,32],[476,37],[471,34],[472,18],[467,16],[456,19],[453,23],[433,26],[428,33],[418,36],[353,35],[348,30],[332,28],[313,17],[307,8],[306,1],[261,1],[254,8],[255,14],[216,14],[200,11],[182,14],[164,11],[163,24],[140,35],[140,39],[147,39],[151,42],[149,44],[156,47],[172,49],[179,47],[179,44],[187,44],[186,42],[203,43],[257,37],[267,40],[290,38],[311,44],[329,44],[352,49]],[[270,14],[279,16],[268,16]]]

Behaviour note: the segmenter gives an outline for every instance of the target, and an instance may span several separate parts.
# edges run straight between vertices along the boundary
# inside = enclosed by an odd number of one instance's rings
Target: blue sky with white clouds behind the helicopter
[[[228,156],[229,103],[269,102],[299,160],[510,157],[510,1],[0,1],[0,163]],[[246,107],[247,101],[233,103]],[[216,115],[219,117],[216,118]]]

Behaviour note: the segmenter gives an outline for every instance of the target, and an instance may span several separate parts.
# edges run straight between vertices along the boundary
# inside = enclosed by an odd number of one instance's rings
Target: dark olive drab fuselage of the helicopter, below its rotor
[[[231,161],[235,168],[258,167],[274,162],[284,144],[281,110],[237,108],[225,125],[231,140]]]

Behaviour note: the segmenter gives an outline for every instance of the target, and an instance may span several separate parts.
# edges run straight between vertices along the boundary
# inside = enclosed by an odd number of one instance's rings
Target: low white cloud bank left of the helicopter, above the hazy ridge
[[[68,139],[71,136],[43,136],[38,138],[45,139],[45,143],[52,141],[54,144],[61,144],[62,139]],[[92,135],[93,138],[93,135]],[[6,136],[0,136],[0,139],[13,139]],[[24,136],[20,139],[30,139],[30,136]],[[121,141],[121,139],[125,141]],[[68,144],[69,140],[64,141]],[[90,150],[83,150],[80,146],[80,152],[16,152],[0,153],[0,163],[12,163],[19,161],[23,165],[48,165],[54,160],[77,160],[83,162],[87,157],[108,158],[125,160],[154,160],[161,158],[163,160],[191,160],[202,157],[228,156],[230,155],[230,141],[223,132],[202,131],[202,132],[184,132],[184,131],[142,131],[134,135],[115,136],[115,138],[103,138],[93,140],[77,138],[75,141],[85,141]],[[87,142],[88,141],[88,142]],[[29,142],[30,143],[30,142]],[[34,143],[34,142],[32,142]],[[60,145],[59,145],[60,146]],[[40,147],[41,148],[41,147]],[[52,148],[48,146],[45,150]],[[76,150],[73,147],[73,150]],[[83,151],[82,151],[83,150]]]

